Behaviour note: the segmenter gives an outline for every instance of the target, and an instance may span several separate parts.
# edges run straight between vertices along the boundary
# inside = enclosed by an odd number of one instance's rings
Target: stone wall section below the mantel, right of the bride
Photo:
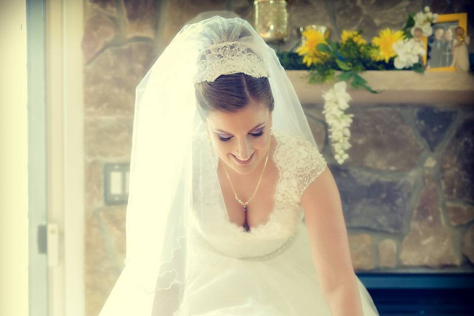
[[[349,159],[329,146],[322,107],[305,105],[334,175],[354,268],[474,269],[474,111],[469,106],[353,106]]]

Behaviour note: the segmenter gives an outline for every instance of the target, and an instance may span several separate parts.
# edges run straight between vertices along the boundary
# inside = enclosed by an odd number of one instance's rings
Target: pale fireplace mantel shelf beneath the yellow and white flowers
[[[336,72],[336,76],[339,73]],[[332,83],[309,84],[304,70],[287,70],[286,74],[302,104],[324,103],[322,94],[331,88]],[[361,76],[370,87],[382,92],[374,94],[350,86],[350,105],[474,103],[474,76],[464,72],[366,71]]]

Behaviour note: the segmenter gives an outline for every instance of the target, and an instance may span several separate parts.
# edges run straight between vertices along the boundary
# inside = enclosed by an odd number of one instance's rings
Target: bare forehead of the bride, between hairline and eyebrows
[[[269,110],[265,106],[249,103],[237,112],[211,111],[207,118],[208,124],[213,129],[227,132],[248,132],[259,123],[267,122]]]

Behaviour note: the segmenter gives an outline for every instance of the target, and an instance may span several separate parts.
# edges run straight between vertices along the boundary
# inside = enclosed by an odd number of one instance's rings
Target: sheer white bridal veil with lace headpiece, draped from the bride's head
[[[274,49],[240,18],[214,16],[185,25],[136,88],[126,210],[126,259],[99,316],[154,315],[159,295],[187,277],[188,214],[206,221],[213,214],[193,204],[202,181],[217,173],[193,161],[193,146],[205,132],[194,83],[222,74],[268,77],[275,100],[273,129],[299,135],[316,146],[291,82]],[[193,185],[194,183],[194,185]],[[310,251],[308,249],[308,251]],[[159,314],[162,315],[162,314]]]

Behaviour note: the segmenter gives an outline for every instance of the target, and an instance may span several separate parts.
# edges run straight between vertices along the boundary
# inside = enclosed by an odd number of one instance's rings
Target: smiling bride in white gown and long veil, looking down
[[[137,86],[126,243],[100,316],[378,315],[295,91],[239,18],[184,26]]]

